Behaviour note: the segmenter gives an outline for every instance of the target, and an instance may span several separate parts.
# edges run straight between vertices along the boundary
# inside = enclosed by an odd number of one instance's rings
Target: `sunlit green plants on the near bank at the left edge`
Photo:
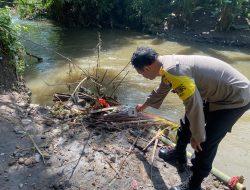
[[[10,9],[0,8],[0,91],[15,89],[25,68],[19,31],[11,21]]]

